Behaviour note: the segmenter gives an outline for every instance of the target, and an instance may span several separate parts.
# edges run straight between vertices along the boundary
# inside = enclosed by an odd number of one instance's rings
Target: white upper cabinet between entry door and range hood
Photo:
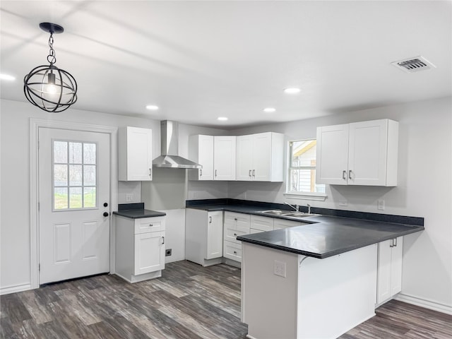
[[[153,179],[153,131],[127,126],[119,129],[119,181],[146,182]]]

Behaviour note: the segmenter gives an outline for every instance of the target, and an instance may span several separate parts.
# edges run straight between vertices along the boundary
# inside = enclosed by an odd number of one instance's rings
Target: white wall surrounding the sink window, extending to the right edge
[[[451,97],[412,102],[285,124],[238,129],[285,133],[287,139],[315,138],[316,126],[389,118],[399,121],[398,186],[326,186],[324,202],[285,198],[285,183],[230,182],[229,198],[425,218],[425,230],[405,237],[403,296],[452,312],[452,105]],[[190,194],[190,192],[189,192]],[[377,210],[379,199],[385,210]],[[348,206],[339,206],[347,201]]]

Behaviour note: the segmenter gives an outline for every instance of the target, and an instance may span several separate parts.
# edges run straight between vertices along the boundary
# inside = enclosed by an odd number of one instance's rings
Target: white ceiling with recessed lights
[[[1,81],[7,100],[25,102],[23,76],[47,64],[42,22],[64,27],[54,35],[55,65],[76,78],[76,109],[232,129],[452,93],[451,1],[15,0],[0,8],[1,73],[16,76]],[[391,65],[417,56],[436,68]],[[289,87],[301,91],[288,95]]]

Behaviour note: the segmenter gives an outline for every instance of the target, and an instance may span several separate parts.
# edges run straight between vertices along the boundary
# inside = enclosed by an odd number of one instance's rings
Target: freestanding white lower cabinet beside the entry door
[[[165,268],[165,217],[115,217],[116,274],[129,283],[160,277]]]

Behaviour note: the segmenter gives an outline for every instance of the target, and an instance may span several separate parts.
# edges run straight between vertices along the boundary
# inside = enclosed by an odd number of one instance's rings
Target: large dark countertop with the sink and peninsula
[[[237,240],[314,258],[328,258],[424,230],[424,218],[403,215],[311,208],[312,213],[321,215],[307,218],[289,218],[282,215],[262,213],[263,210],[286,209],[286,206],[282,204],[257,202],[256,205],[253,205],[252,202],[234,201],[233,199],[219,199],[218,202],[206,201],[203,204],[196,201],[193,205],[188,203],[186,208],[227,210],[306,222],[309,225],[246,234],[237,237]]]

